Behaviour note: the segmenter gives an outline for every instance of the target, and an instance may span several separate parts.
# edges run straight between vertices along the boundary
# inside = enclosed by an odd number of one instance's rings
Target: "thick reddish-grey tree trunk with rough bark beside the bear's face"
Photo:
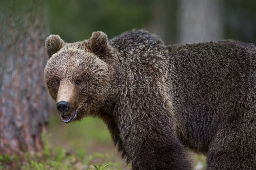
[[[0,154],[41,151],[48,122],[42,1],[0,6]]]

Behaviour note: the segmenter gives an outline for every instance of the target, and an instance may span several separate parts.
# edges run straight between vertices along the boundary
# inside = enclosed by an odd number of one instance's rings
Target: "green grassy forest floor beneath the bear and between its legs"
[[[80,122],[65,124],[60,117],[52,114],[49,132],[43,133],[43,152],[25,153],[20,160],[15,155],[0,155],[2,169],[35,169],[35,170],[96,170],[93,164],[101,163],[104,170],[128,170],[130,165],[121,159],[110,134],[102,121],[95,118],[84,118]],[[194,167],[197,170],[206,168],[204,156],[191,152]],[[12,166],[10,166],[10,162]]]

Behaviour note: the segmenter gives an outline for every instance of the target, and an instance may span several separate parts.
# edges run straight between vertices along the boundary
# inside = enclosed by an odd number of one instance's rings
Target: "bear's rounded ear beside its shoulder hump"
[[[85,41],[85,46],[88,51],[100,57],[108,47],[108,36],[102,31],[93,32],[90,39]]]

